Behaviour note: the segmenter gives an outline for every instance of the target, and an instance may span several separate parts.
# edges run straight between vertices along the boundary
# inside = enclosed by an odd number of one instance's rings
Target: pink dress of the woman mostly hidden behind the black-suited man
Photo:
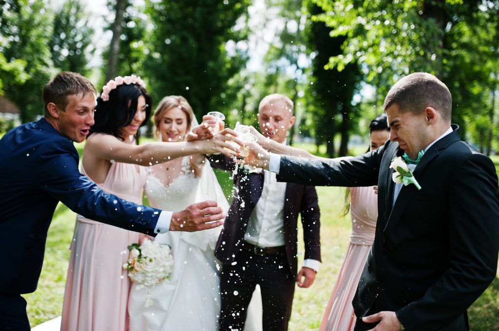
[[[357,290],[378,218],[378,196],[373,187],[349,188],[352,234],[338,280],[327,304],[319,331],[353,331],[355,314],[352,299]]]

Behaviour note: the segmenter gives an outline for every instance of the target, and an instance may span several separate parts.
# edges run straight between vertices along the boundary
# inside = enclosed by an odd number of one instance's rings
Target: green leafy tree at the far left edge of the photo
[[[47,42],[52,20],[43,0],[5,0],[1,8],[2,55],[20,74],[14,79],[2,76],[3,91],[27,122],[43,114],[41,91],[52,68]]]

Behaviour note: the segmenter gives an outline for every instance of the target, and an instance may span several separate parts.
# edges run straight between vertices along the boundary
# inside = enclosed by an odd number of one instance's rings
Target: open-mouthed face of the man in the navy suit
[[[83,97],[69,95],[66,98],[66,110],[58,109],[58,117],[54,118],[56,130],[72,141],[82,142],[94,124],[95,96],[89,93]]]

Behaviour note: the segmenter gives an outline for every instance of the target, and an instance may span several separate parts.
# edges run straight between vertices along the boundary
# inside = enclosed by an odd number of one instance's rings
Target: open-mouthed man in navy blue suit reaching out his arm
[[[86,218],[151,236],[203,230],[223,222],[215,202],[181,212],[161,211],[105,194],[80,174],[73,141],[82,142],[94,123],[95,96],[86,78],[60,73],[44,88],[44,118],[12,129],[0,140],[2,331],[30,330],[21,294],[36,289],[47,230],[59,201]],[[58,111],[50,111],[52,106]]]

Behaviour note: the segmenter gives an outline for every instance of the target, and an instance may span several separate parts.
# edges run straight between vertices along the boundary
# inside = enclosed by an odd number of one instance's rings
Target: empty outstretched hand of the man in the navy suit
[[[215,201],[204,201],[175,212],[170,222],[170,231],[194,232],[224,224],[225,215]]]

